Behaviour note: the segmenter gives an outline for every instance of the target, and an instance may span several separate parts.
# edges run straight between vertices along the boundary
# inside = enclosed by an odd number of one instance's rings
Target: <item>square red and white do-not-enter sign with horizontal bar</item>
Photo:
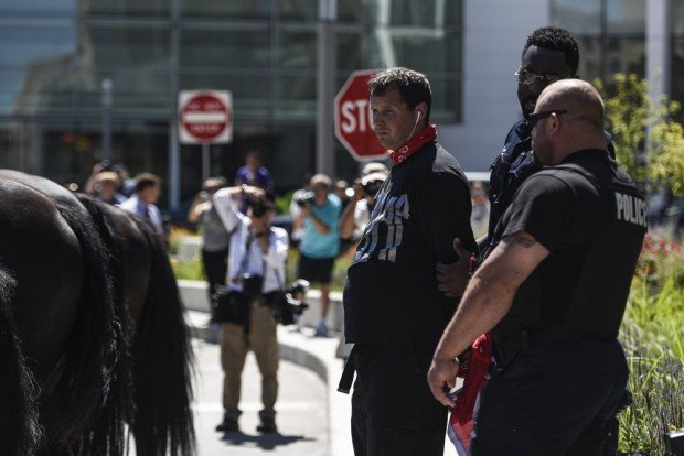
[[[179,139],[183,144],[233,140],[233,95],[228,90],[181,90]]]

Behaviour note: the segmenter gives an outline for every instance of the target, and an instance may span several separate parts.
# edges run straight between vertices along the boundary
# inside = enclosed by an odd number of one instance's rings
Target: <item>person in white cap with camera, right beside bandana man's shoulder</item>
[[[354,196],[349,202],[340,221],[340,237],[357,241],[363,229],[371,221],[371,210],[375,195],[387,178],[389,170],[382,163],[373,162],[363,167],[362,177],[354,182]]]

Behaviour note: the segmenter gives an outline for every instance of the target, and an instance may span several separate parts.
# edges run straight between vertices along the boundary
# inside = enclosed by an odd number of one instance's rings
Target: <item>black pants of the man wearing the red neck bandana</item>
[[[427,384],[434,347],[354,346],[356,456],[443,455],[447,409]]]

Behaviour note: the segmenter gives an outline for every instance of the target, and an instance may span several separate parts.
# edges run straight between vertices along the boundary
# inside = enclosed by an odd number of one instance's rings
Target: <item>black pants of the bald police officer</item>
[[[618,341],[571,340],[526,348],[496,369],[484,388],[471,454],[608,454],[627,378]]]

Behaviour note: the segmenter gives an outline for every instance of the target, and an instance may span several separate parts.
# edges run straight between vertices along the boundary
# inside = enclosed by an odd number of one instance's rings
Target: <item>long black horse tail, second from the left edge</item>
[[[116,401],[119,352],[126,349],[111,275],[111,252],[82,207],[57,205],[82,249],[85,276],[74,329],[42,404],[51,447],[83,455],[117,455],[125,448]]]

